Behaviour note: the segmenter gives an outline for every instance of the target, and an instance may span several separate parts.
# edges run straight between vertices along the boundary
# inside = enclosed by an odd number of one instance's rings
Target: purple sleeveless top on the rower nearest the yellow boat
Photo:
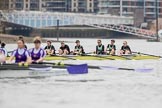
[[[41,54],[41,51],[43,51],[43,55]],[[34,48],[32,49],[32,51],[31,51],[32,60],[36,61],[36,60],[40,59],[41,55],[42,55],[42,57],[44,56],[44,50],[42,48],[40,48],[37,53],[34,52]]]

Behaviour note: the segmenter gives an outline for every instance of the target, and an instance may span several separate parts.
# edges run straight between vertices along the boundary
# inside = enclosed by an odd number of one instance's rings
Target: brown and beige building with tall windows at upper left
[[[98,0],[0,0],[0,10],[97,13]]]

